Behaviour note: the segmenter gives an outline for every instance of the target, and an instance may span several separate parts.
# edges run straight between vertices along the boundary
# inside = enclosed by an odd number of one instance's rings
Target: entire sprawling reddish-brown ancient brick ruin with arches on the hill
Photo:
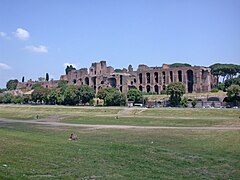
[[[106,61],[92,63],[89,71],[87,68],[72,70],[62,75],[60,80],[69,84],[88,85],[97,92],[101,88],[115,87],[121,92],[136,88],[143,92],[160,94],[171,82],[185,84],[187,93],[209,92],[213,83],[211,69],[202,66],[172,67],[163,64],[162,67],[148,67],[140,64],[136,71],[129,65],[128,69],[114,70],[107,66]],[[41,82],[45,88],[57,87],[58,81]],[[18,88],[30,88],[36,82],[28,81],[19,83]]]

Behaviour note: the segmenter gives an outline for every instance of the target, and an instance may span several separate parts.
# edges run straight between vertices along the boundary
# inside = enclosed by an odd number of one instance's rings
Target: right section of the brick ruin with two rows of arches
[[[163,68],[150,68],[141,65],[137,70],[137,77],[137,88],[148,93],[159,94],[171,82],[184,83],[187,93],[211,90],[211,69],[199,66],[171,68],[165,64]]]

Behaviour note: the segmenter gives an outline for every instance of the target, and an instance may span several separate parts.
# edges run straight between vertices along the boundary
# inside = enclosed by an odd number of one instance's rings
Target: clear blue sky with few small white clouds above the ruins
[[[114,68],[240,62],[239,0],[0,0],[0,87]]]

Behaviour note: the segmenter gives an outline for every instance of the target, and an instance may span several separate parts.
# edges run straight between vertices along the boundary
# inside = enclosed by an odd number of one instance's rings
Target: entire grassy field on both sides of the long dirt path
[[[36,114],[40,121],[76,124],[240,126],[238,109],[0,105],[0,118],[29,121]],[[72,132],[77,141],[68,140]],[[239,179],[239,154],[240,130],[0,122],[0,179]]]

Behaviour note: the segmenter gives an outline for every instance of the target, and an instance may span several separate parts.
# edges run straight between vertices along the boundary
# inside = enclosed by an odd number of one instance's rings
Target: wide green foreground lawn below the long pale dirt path
[[[0,179],[239,179],[240,131],[0,124]],[[75,132],[79,140],[69,141]]]

